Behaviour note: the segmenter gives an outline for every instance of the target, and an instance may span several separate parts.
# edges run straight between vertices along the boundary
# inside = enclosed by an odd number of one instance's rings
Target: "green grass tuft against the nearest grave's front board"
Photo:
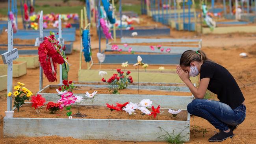
[[[169,144],[183,144],[185,142],[185,136],[181,135],[182,131],[184,131],[185,129],[183,129],[180,133],[178,133],[178,135],[175,135],[174,134],[174,130],[173,130],[173,133],[168,133],[165,129],[159,127],[161,129],[161,131],[165,131],[165,135],[161,135],[160,139],[163,139],[165,140],[165,142],[169,143]],[[157,138],[157,139],[158,139]]]

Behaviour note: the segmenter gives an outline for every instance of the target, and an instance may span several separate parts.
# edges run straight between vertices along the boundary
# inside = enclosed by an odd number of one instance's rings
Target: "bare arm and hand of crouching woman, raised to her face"
[[[199,87],[197,89],[197,87],[195,87],[193,85],[193,83],[190,81],[188,72],[185,72],[184,70],[182,70],[182,68],[180,68],[180,66],[177,66],[176,72],[177,72],[178,76],[180,77],[180,79],[182,79],[182,81],[184,81],[184,83],[186,83],[187,87],[189,88],[189,90],[191,91],[193,96],[195,96],[195,98],[199,98],[199,99],[204,98],[207,87],[209,85],[210,78],[201,79],[201,81],[199,83]]]

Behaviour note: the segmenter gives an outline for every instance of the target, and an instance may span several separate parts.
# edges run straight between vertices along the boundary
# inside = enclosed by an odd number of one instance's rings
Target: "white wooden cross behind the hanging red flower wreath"
[[[39,17],[39,37],[35,40],[35,46],[40,46],[40,44],[45,40],[44,28],[43,28],[43,11],[40,13]],[[39,90],[43,89],[43,68],[40,65],[39,72]]]

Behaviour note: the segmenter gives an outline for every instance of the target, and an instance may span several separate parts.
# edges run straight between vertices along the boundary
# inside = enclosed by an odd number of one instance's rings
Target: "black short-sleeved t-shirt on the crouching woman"
[[[235,109],[245,98],[236,83],[234,77],[223,66],[212,61],[205,61],[200,69],[200,80],[210,78],[208,90],[218,95],[222,103],[226,103]]]

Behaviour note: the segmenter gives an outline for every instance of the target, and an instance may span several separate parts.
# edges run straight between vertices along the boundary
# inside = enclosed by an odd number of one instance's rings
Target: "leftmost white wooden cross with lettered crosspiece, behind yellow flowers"
[[[19,58],[17,48],[13,48],[13,28],[11,20],[8,20],[8,52],[2,54],[4,64],[7,64],[7,93],[13,92],[13,60]],[[7,97],[7,111],[12,109],[12,99]]]

